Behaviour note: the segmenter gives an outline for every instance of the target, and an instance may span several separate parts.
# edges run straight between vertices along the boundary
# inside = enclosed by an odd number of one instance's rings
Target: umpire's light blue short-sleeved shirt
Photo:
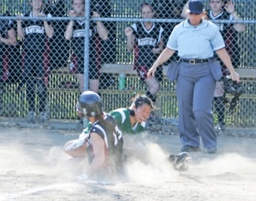
[[[175,26],[167,42],[167,48],[177,50],[179,57],[190,59],[213,57],[215,50],[224,47],[218,27],[206,20],[198,26],[191,26],[186,19]]]

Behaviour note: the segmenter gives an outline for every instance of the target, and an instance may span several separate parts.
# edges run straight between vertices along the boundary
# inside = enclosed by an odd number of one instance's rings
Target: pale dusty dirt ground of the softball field
[[[76,176],[86,168],[86,161],[70,158],[62,147],[78,138],[80,131],[65,128],[65,124],[61,128],[0,124],[0,200],[256,198],[255,137],[232,132],[218,135],[216,154],[210,155],[204,148],[190,153],[188,170],[177,171],[166,160],[171,153],[180,152],[177,134],[150,131],[125,136],[126,148],[133,147],[135,152],[126,160],[122,178],[78,182]]]

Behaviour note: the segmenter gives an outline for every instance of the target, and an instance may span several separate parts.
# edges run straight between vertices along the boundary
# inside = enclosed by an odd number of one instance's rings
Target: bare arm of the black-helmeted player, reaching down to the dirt
[[[105,161],[104,140],[96,132],[91,132],[90,137],[94,148],[94,160],[92,161],[90,167],[86,171],[86,175],[88,176],[93,175],[94,172],[97,171],[98,168],[101,167]]]

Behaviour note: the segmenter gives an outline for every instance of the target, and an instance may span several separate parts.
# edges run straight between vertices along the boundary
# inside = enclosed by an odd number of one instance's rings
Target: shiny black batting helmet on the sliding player
[[[102,99],[97,93],[86,91],[80,95],[78,102],[84,116],[96,116],[103,112]]]

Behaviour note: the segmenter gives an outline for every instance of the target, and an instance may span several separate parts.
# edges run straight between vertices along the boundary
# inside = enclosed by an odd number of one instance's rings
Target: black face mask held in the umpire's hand
[[[242,85],[236,81],[232,81],[231,77],[224,77],[224,88],[226,93],[230,93],[234,97],[239,97],[242,94]]]

